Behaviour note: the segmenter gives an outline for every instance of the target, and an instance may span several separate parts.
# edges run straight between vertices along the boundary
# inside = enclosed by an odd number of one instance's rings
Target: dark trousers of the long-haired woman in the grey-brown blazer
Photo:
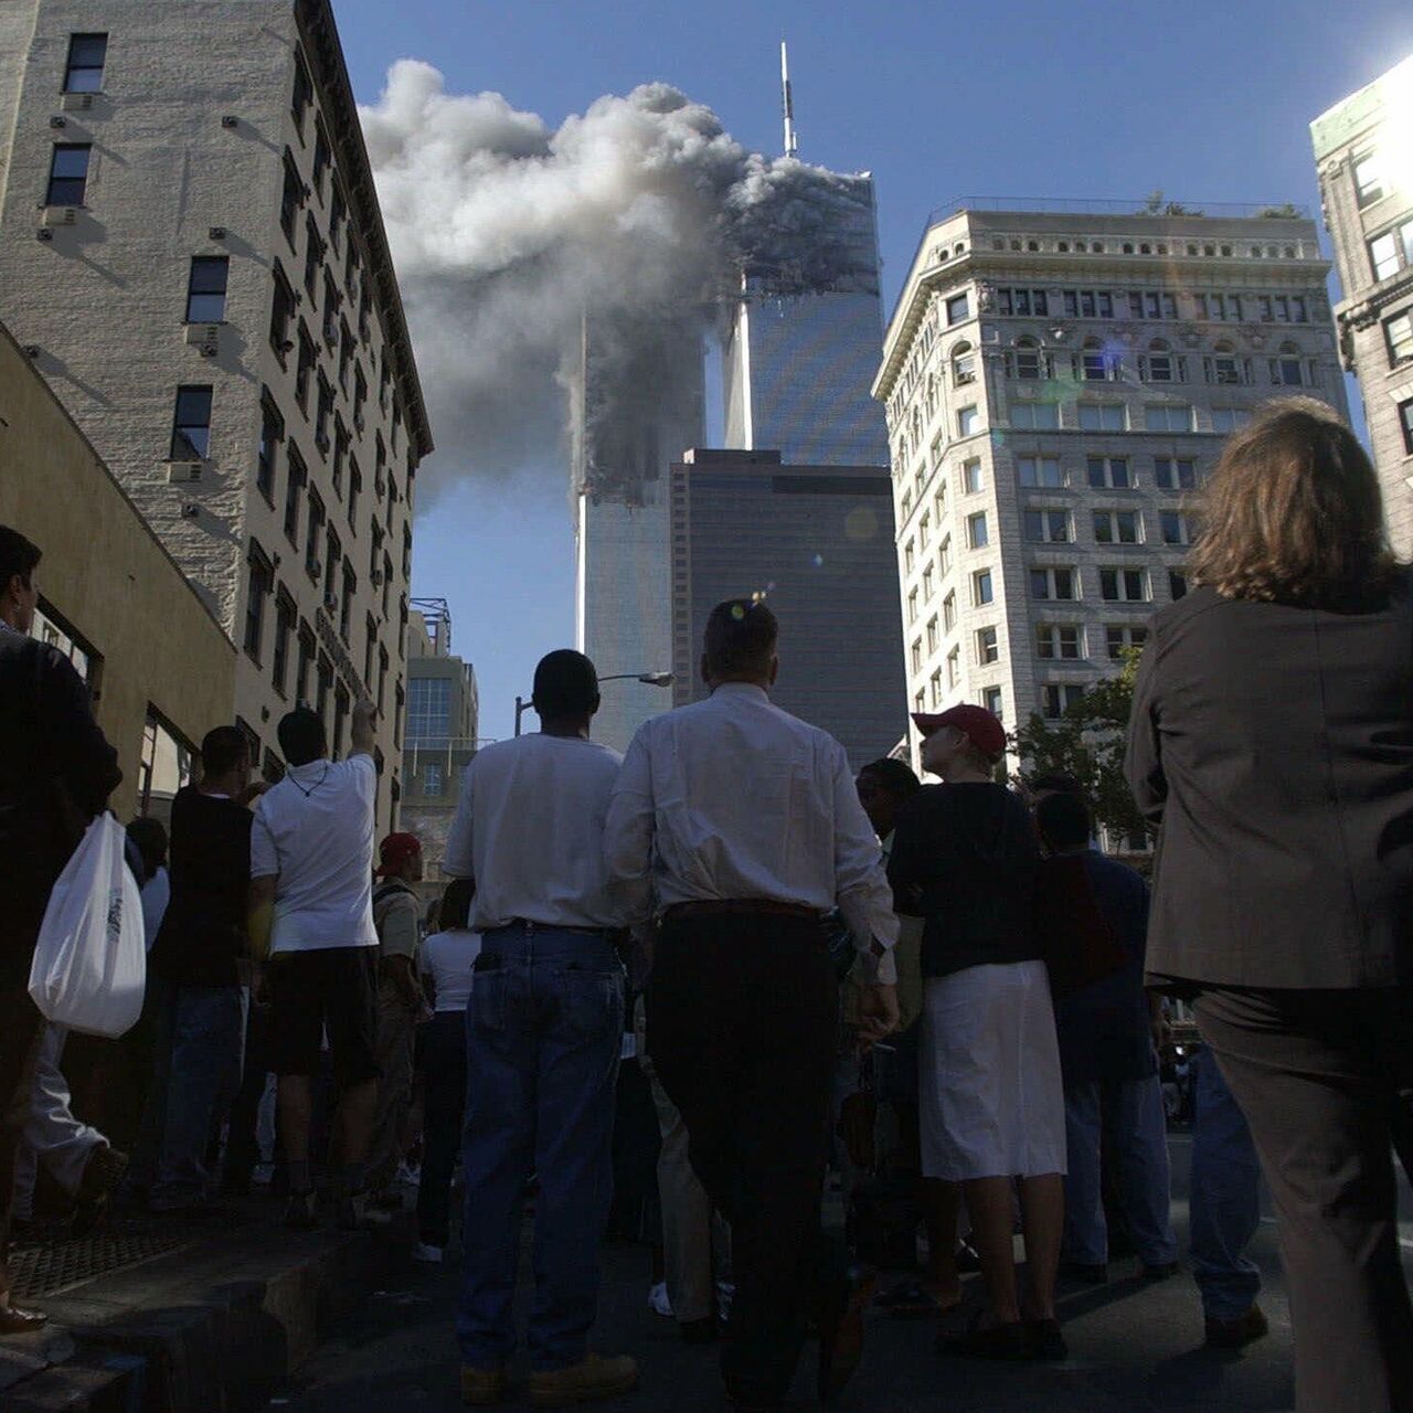
[[[1392,1122],[1413,988],[1210,991],[1195,1012],[1280,1217],[1299,1413],[1410,1413]]]

